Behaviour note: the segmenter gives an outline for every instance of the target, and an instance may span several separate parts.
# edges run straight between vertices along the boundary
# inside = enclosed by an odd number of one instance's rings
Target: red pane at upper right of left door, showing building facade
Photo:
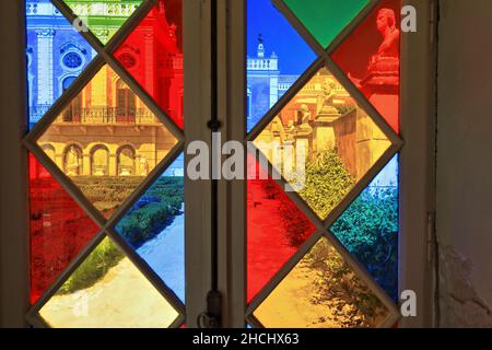
[[[183,128],[183,0],[159,0],[115,57]]]

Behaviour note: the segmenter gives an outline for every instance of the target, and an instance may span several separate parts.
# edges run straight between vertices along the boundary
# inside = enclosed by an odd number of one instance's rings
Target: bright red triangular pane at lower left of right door
[[[250,156],[248,167],[267,174]],[[315,231],[313,223],[295,207],[271,178],[247,183],[247,293],[248,302]]]

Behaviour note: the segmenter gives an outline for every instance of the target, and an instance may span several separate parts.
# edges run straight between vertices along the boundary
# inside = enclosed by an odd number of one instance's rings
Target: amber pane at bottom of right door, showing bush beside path
[[[268,328],[377,327],[388,308],[323,237],[254,312]]]

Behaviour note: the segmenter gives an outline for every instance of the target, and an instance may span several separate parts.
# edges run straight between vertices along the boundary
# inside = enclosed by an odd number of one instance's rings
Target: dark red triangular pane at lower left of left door
[[[32,154],[30,201],[34,304],[99,229]]]

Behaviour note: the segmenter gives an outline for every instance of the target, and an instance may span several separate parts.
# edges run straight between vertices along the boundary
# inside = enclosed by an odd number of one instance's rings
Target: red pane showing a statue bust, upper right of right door
[[[333,52],[386,121],[399,132],[401,0],[383,0]]]

